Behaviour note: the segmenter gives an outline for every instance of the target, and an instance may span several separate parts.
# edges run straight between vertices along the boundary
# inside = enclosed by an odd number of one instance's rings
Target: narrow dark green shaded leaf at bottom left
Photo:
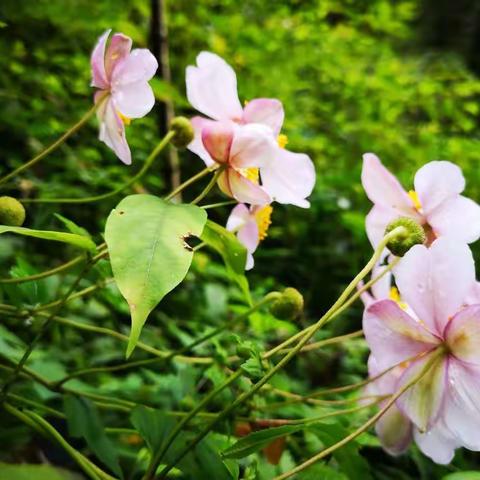
[[[84,438],[92,452],[115,475],[123,478],[117,452],[105,434],[95,405],[85,398],[66,395],[64,409],[70,435],[76,438]]]

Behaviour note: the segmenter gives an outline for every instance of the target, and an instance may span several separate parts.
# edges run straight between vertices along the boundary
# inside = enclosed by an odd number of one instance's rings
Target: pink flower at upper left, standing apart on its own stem
[[[92,87],[95,103],[102,102],[97,116],[99,138],[123,163],[130,165],[132,156],[125,137],[125,125],[132,118],[145,116],[153,107],[155,97],[148,81],[155,75],[158,64],[147,49],[132,48],[132,39],[116,33],[107,47],[111,30],[98,40],[92,58]]]

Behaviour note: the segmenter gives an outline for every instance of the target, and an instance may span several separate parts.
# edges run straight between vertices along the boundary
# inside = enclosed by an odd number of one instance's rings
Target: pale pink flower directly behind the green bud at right
[[[366,220],[367,235],[373,246],[383,238],[385,227],[398,217],[410,217],[421,223],[428,244],[442,236],[465,243],[480,237],[480,206],[460,195],[465,179],[453,163],[427,163],[415,175],[415,190],[407,193],[375,155],[366,153],[362,183],[374,204]]]

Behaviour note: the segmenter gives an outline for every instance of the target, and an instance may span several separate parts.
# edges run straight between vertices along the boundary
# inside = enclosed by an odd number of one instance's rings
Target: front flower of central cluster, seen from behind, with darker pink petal
[[[237,128],[231,123],[215,122],[202,130],[202,140],[211,158],[223,171],[218,186],[238,202],[265,205],[268,193],[258,185],[258,167],[272,152],[272,141],[261,125]]]

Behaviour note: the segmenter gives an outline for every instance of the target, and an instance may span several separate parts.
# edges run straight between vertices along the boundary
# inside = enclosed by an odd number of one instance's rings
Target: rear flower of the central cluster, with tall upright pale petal
[[[242,108],[235,72],[218,55],[201,52],[197,66],[187,67],[186,83],[189,102],[209,117],[192,119],[195,138],[188,148],[207,166],[212,165],[214,159],[202,142],[202,130],[215,121],[238,126],[263,125],[276,143],[284,119],[282,103],[273,98],[257,98]],[[280,136],[279,141],[285,143],[284,136]],[[304,208],[310,206],[306,197],[315,185],[315,168],[308,155],[289,152],[277,144],[268,162],[260,168],[260,177],[273,200]]]

